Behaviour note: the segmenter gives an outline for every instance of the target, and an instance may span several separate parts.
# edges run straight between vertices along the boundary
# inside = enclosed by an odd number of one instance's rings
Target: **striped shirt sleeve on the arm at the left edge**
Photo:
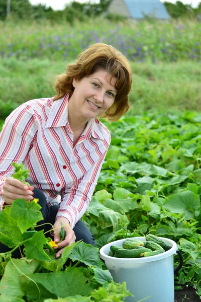
[[[11,164],[22,163],[33,144],[37,128],[30,105],[21,105],[6,119],[0,133],[0,206],[3,205],[3,185],[14,174]]]

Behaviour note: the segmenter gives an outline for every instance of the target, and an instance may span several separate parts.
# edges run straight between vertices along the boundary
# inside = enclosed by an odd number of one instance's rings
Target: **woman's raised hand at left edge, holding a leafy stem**
[[[15,199],[26,199],[30,201],[33,199],[33,186],[28,187],[20,180],[13,177],[8,177],[3,185],[3,199],[8,205],[12,204]]]

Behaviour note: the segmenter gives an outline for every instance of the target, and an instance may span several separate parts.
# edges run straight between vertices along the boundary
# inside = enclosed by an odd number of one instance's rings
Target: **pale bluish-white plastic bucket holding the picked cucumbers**
[[[161,238],[161,237],[159,237]],[[145,237],[136,237],[146,241]],[[159,255],[144,258],[115,258],[108,256],[111,245],[122,247],[126,239],[117,240],[103,246],[100,258],[105,261],[117,283],[126,282],[127,289],[134,295],[128,296],[126,302],[137,302],[147,297],[146,302],[174,302],[174,271],[182,265],[182,256],[173,240],[161,238],[172,248]],[[174,270],[173,255],[178,254],[180,264]]]

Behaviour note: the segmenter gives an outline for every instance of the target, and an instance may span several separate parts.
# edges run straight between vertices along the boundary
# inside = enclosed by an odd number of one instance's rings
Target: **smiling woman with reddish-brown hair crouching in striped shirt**
[[[64,226],[56,258],[75,240],[94,245],[80,219],[111,142],[109,130],[97,116],[110,121],[123,116],[130,107],[131,86],[127,58],[112,46],[93,44],[58,76],[53,98],[28,101],[6,119],[0,134],[1,204],[39,198],[44,218],[39,223],[54,224],[56,243],[60,222]],[[29,169],[30,187],[12,178],[11,162]],[[0,252],[5,249],[1,244]]]

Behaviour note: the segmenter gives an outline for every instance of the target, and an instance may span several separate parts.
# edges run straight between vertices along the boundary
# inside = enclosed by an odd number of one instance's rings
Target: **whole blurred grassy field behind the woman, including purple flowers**
[[[100,27],[99,24],[102,24]],[[116,46],[131,61],[132,109],[200,110],[201,24],[192,21],[87,24],[0,23],[0,118],[30,99],[54,95],[54,79],[93,42]]]

